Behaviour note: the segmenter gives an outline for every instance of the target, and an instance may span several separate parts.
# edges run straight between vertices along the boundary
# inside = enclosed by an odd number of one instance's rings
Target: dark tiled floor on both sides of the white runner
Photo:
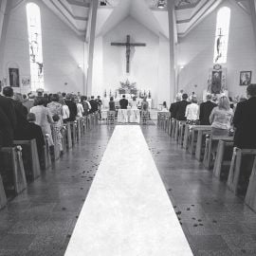
[[[156,126],[142,131],[194,255],[256,255],[256,213]],[[113,129],[87,134],[0,210],[0,256],[63,256]]]

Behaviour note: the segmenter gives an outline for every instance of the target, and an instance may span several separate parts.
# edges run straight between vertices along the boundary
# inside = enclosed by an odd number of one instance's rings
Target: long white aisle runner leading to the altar
[[[139,126],[117,126],[65,256],[191,256]]]

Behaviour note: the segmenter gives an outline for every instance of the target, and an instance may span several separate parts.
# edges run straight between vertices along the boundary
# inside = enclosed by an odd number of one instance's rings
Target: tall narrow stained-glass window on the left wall
[[[31,90],[44,89],[41,15],[34,3],[27,4],[27,31],[30,55]]]

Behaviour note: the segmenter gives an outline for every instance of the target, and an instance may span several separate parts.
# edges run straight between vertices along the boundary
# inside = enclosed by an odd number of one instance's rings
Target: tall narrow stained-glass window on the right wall
[[[230,9],[224,7],[217,14],[215,33],[214,64],[226,64],[229,46]]]

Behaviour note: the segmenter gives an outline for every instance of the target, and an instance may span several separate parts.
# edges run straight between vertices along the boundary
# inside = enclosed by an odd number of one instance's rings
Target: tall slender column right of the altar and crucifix
[[[170,101],[174,101],[174,97],[177,93],[176,85],[176,72],[175,72],[175,32],[176,26],[175,13],[174,13],[174,1],[167,1],[168,17],[169,17],[169,41],[170,41]]]

